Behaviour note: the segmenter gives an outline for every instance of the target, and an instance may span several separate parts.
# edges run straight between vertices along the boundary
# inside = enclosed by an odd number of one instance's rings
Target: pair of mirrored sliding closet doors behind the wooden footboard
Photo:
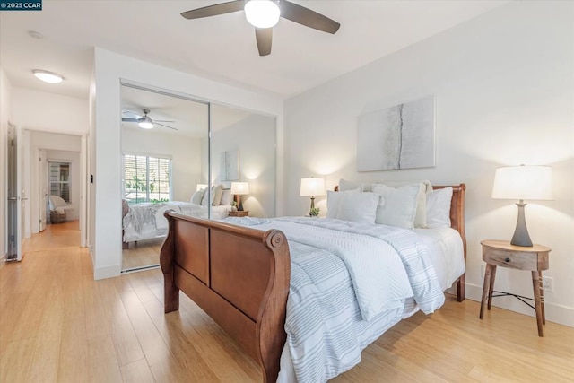
[[[129,83],[121,110],[124,272],[159,265],[166,210],[275,216],[274,116]]]

